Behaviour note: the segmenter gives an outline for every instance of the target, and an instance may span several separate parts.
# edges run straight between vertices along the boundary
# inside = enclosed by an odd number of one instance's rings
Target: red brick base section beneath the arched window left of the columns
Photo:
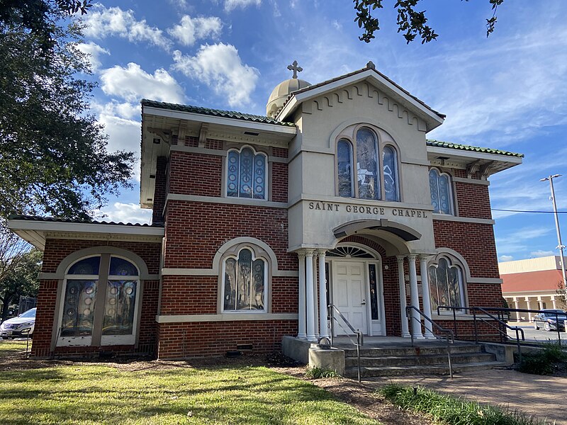
[[[240,320],[159,324],[158,358],[218,356],[252,344],[252,353],[281,350],[284,335],[297,334],[296,320]]]

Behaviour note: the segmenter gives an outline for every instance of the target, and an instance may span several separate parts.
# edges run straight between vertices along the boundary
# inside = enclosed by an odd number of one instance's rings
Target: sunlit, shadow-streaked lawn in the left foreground
[[[0,353],[12,344],[0,342]],[[75,363],[0,372],[0,424],[99,423],[378,424],[325,390],[264,367]]]

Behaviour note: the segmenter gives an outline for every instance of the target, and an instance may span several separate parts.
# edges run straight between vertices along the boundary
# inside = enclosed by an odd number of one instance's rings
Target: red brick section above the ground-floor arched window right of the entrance
[[[500,278],[493,225],[433,220],[435,246],[459,252],[471,277]]]

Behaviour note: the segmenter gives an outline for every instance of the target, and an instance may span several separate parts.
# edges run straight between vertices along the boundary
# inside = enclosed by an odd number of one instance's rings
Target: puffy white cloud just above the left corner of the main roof
[[[100,73],[104,93],[118,96],[128,102],[139,102],[141,98],[156,101],[183,103],[183,89],[165,69],[147,74],[140,65],[130,62],[123,68],[118,65]]]

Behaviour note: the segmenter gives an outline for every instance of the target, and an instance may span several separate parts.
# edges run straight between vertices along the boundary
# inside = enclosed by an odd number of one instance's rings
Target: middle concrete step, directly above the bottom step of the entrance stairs
[[[487,363],[495,361],[494,354],[490,353],[452,353],[451,362],[454,364],[464,363]],[[357,367],[356,357],[344,359],[347,368]],[[360,364],[366,367],[382,368],[389,366],[412,366],[412,365],[445,365],[447,364],[447,353],[426,354],[421,356],[383,356],[383,357],[362,357]]]

